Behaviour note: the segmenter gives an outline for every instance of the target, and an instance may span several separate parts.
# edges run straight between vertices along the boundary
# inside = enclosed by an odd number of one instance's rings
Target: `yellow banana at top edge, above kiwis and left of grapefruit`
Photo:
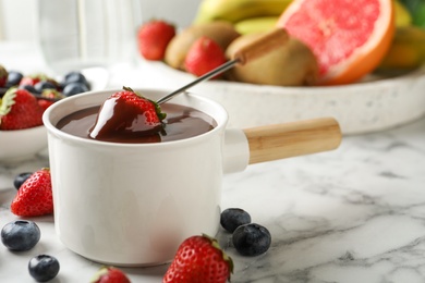
[[[256,16],[278,16],[292,0],[203,0],[194,24],[224,20],[236,23]]]

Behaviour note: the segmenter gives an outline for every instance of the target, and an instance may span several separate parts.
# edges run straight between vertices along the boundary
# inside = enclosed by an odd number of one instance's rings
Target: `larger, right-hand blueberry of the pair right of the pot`
[[[239,226],[232,236],[234,248],[242,256],[259,256],[267,251],[271,244],[270,232],[256,223]]]

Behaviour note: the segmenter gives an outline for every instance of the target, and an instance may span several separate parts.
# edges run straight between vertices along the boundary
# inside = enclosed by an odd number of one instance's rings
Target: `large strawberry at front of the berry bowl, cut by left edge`
[[[42,109],[26,89],[9,88],[1,99],[0,130],[22,130],[42,125]]]

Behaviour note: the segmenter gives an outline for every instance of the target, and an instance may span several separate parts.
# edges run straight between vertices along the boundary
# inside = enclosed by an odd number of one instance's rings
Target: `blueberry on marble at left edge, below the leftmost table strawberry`
[[[10,250],[32,249],[40,239],[40,230],[33,221],[16,220],[3,226],[1,242]]]

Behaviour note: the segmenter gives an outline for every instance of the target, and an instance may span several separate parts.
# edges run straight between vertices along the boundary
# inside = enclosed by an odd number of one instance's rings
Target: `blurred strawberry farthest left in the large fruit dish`
[[[162,60],[174,36],[175,27],[172,24],[161,20],[149,21],[137,30],[138,51],[146,60]]]

